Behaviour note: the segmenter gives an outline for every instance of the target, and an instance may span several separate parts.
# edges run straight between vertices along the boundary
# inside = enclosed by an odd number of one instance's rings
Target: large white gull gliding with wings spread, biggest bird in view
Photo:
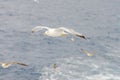
[[[44,32],[44,35],[51,36],[51,37],[59,37],[59,36],[67,36],[68,34],[78,36],[82,39],[86,39],[84,35],[81,33],[76,32],[73,29],[68,29],[65,27],[59,27],[59,28],[50,28],[46,26],[36,26],[35,28],[32,29],[32,33],[37,32],[39,30],[46,29]]]

